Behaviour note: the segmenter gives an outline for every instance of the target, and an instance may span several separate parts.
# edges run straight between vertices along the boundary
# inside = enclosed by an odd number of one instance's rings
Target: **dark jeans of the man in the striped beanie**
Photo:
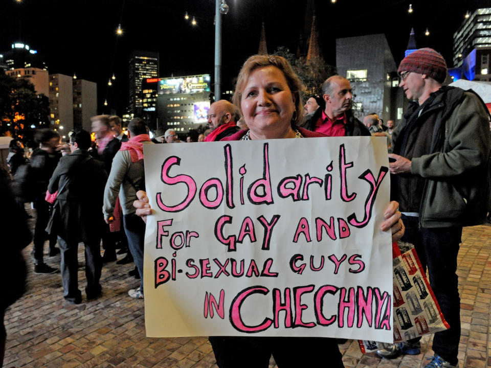
[[[457,255],[462,226],[421,227],[419,218],[403,215],[406,233],[401,241],[414,244],[423,270],[428,269],[430,286],[450,329],[436,332],[433,351],[451,364],[457,364],[460,341],[460,297]]]

